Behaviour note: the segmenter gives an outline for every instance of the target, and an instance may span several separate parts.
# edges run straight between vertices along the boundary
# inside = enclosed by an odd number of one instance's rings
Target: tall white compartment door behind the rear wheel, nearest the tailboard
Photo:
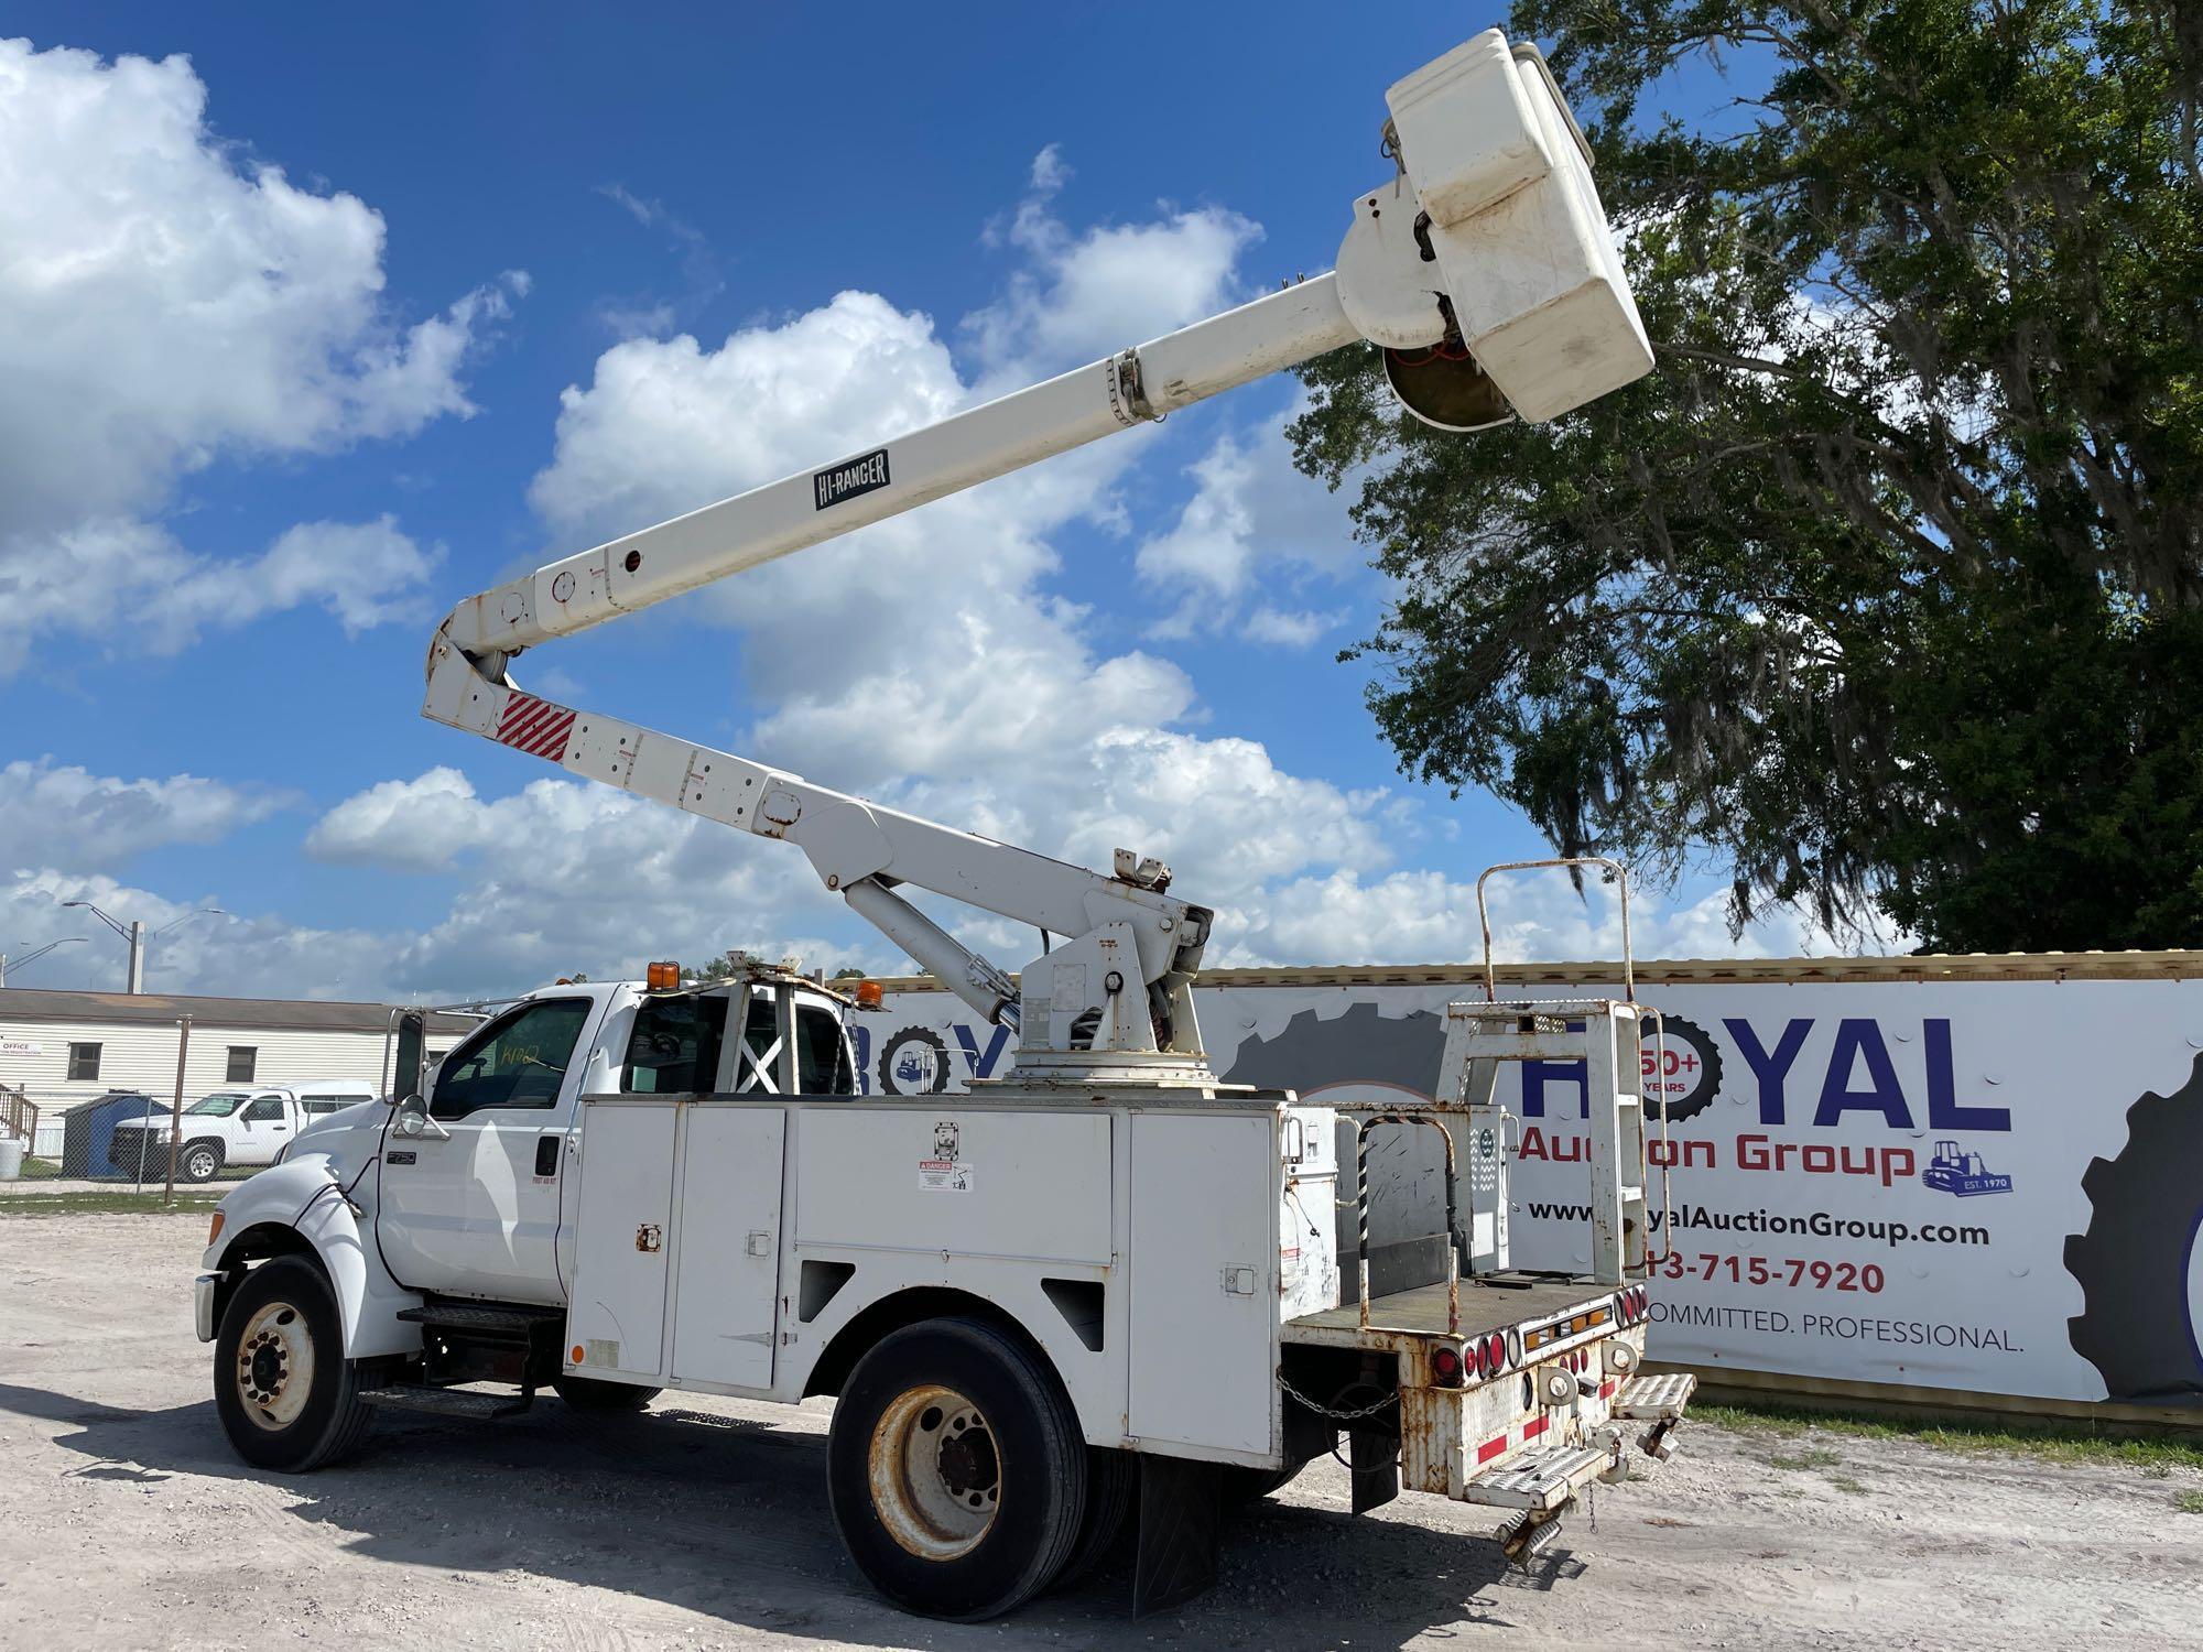
[[[1278,1121],[1132,1115],[1132,1403],[1172,1456],[1273,1463]]]

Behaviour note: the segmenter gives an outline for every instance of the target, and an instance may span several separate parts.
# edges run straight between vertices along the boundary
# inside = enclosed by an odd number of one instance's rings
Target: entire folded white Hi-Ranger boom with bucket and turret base
[[[1467,430],[1551,419],[1652,366],[1588,152],[1544,62],[1494,29],[1388,93],[1399,172],[1359,196],[1339,269],[820,471],[610,540],[469,597],[438,626],[423,716],[797,844],[828,890],[972,1009],[1020,1029],[1020,1077],[1209,1082],[1192,980],[1212,914],[1170,868],[1113,874],[901,815],[727,751],[522,694],[516,654],[833,540],[1342,344],[1383,346],[1401,401]],[[1020,982],[897,888],[1031,923],[1066,945]]]

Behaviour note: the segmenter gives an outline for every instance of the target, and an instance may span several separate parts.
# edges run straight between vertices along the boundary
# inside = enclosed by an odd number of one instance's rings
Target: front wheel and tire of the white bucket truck
[[[372,1421],[328,1278],[300,1256],[262,1262],[214,1337],[214,1412],[247,1463],[308,1474],[357,1449]]]

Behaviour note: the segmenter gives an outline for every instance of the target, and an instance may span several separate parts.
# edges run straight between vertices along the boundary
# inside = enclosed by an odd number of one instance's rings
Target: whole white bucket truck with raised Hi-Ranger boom
[[[736,830],[824,885],[980,1015],[1011,1077],[857,1095],[844,1015],[791,969],[683,989],[555,985],[392,1108],[308,1128],[231,1194],[198,1335],[236,1449],[339,1460],[375,1408],[496,1419],[544,1388],[639,1410],[668,1388],[837,1396],[828,1493],[912,1610],[985,1619],[1137,1531],[1135,1606],[1203,1586],[1218,1511],[1346,1436],[1355,1507],[1401,1487],[1502,1511],[1522,1557],[1591,1478],[1661,1456],[1687,1379],[1646,1324],[1639,1009],[1458,1004],[1428,1106],[1445,1220],[1366,1253],[1339,1115],[1209,1070],[1192,982],[1212,912],[1170,868],[1110,872],[972,837],[747,758],[524,694],[522,650],[972,487],[1359,339],[1430,423],[1551,419],[1650,368],[1588,154],[1542,59],[1489,31],[1392,86],[1392,178],[1333,275],[1002,401],[612,540],[460,604],[423,711]],[[1031,925],[1018,976],[903,885]],[[1511,1271],[1502,1059],[1586,1059],[1593,1267]],[[1357,1161],[1366,1154],[1355,1152]],[[1461,1196],[1456,1198],[1456,1189]],[[1346,1220],[1335,1222],[1344,1207]],[[1353,1267],[1342,1267],[1342,1247]]]

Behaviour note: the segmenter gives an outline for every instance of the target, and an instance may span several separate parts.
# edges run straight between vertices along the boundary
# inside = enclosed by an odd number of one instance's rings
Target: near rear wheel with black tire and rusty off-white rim
[[[923,1319],[842,1385],[826,1496],[897,1606],[976,1623],[1046,1588],[1079,1540],[1086,1445],[1055,1374],[978,1319]]]

